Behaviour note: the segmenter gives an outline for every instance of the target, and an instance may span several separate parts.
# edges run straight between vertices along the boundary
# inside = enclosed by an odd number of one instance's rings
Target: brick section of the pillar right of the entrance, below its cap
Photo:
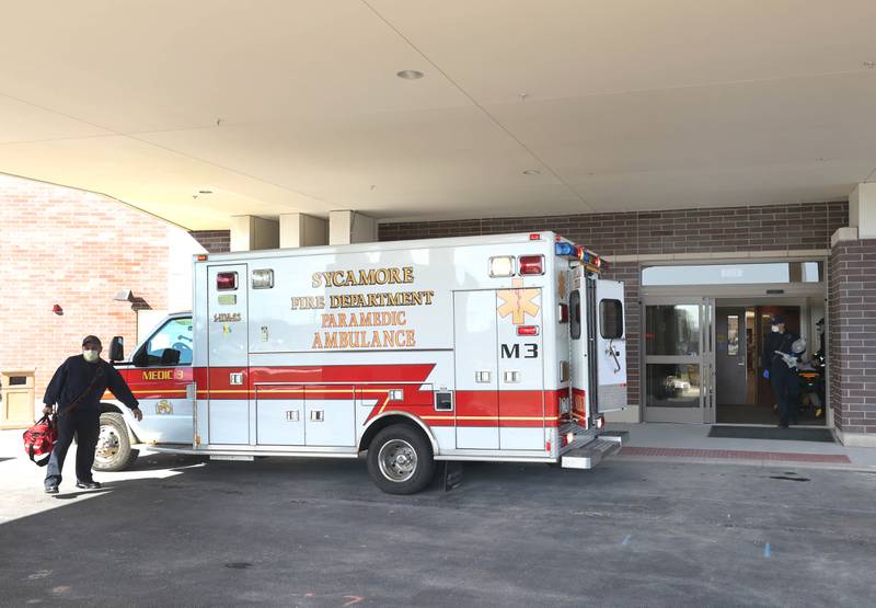
[[[876,433],[876,240],[839,242],[828,285],[833,421]]]

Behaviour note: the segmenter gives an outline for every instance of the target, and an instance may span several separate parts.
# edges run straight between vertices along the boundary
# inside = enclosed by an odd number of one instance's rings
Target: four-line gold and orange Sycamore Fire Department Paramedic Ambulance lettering
[[[314,288],[404,285],[414,283],[413,266],[359,268],[313,273]],[[434,290],[380,291],[369,294],[328,294],[296,296],[292,310],[382,308],[430,306]],[[327,303],[327,306],[326,306]],[[406,329],[404,311],[327,312],[320,316],[321,330],[313,334],[313,349],[337,348],[413,348],[416,331]]]

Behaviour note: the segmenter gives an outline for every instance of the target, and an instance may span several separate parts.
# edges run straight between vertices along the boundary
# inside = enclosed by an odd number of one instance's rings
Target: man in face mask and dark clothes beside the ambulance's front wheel
[[[76,434],[76,486],[95,490],[101,486],[91,477],[94,463],[94,448],[100,434],[101,398],[110,391],[131,409],[140,421],[143,415],[139,403],[130,392],[118,370],[101,358],[101,341],[95,335],[82,341],[82,354],[68,358],[55,371],[46,388],[43,403],[44,414],[51,414],[53,405],[58,404],[58,440],[51,450],[46,471],[46,493],[57,494],[61,483],[61,469],[67,449]]]

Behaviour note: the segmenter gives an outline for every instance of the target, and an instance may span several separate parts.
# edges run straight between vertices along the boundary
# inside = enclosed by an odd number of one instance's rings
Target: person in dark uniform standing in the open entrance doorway
[[[770,321],[769,335],[763,340],[763,377],[770,380],[779,404],[779,426],[787,428],[788,424],[797,424],[797,408],[800,399],[800,381],[780,354],[796,356],[793,345],[798,336],[787,331],[782,317],[773,317]]]

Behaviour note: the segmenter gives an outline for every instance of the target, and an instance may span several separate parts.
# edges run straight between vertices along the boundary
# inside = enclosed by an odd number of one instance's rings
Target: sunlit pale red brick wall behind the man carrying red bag
[[[0,176],[0,369],[35,369],[37,400],[82,337],[136,342],[130,289],[166,308],[168,225],[96,194]],[[53,313],[60,305],[62,316]]]

